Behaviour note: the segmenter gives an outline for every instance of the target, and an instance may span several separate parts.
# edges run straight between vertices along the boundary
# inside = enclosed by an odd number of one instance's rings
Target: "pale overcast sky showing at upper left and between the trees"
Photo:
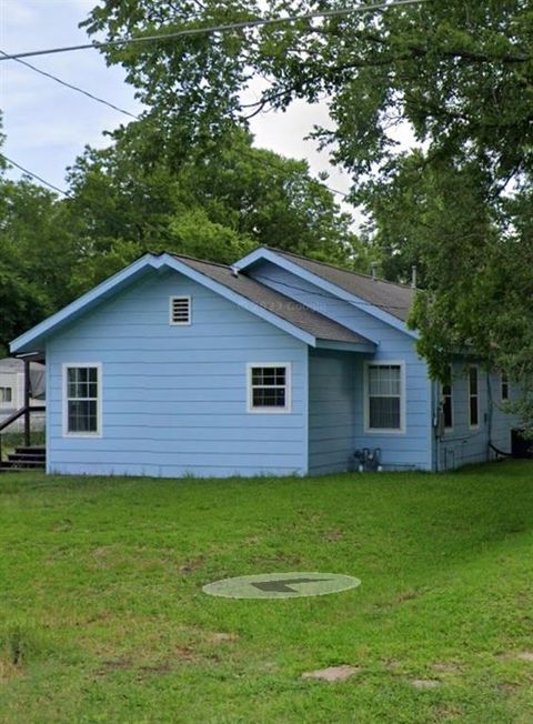
[[[0,0],[0,49],[22,52],[88,42],[78,28],[95,0]],[[29,62],[114,104],[139,112],[132,89],[120,68],[107,68],[98,51],[29,58]],[[7,141],[3,152],[60,188],[64,174],[86,144],[107,143],[102,131],[112,130],[127,117],[62,88],[16,61],[0,62],[0,108]],[[257,144],[284,155],[306,158],[313,173],[329,171],[329,184],[346,191],[349,178],[328,163],[304,137],[313,123],[328,122],[325,107],[296,103],[286,113],[253,119]],[[13,177],[20,173],[11,172]]]

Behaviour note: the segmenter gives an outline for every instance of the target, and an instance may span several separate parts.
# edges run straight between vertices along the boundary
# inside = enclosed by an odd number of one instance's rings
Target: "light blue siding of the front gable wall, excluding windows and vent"
[[[192,324],[169,325],[190,294]],[[62,364],[102,364],[102,436],[62,434]],[[247,363],[290,362],[292,412],[247,412]],[[48,470],[180,476],[304,474],[308,348],[181,274],[153,273],[47,344]]]

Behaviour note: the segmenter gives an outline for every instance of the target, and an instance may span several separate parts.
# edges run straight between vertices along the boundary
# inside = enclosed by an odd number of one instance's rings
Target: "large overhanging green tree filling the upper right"
[[[370,4],[370,3],[369,3]],[[393,4],[393,3],[390,3]],[[344,7],[340,0],[107,0],[87,28],[117,40]],[[264,9],[266,8],[266,9]],[[247,114],[326,98],[315,137],[352,172],[389,274],[420,268],[413,323],[435,373],[453,350],[533,386],[533,6],[430,0],[322,20],[113,46],[177,145],[223,138]],[[243,108],[250,79],[268,81]],[[394,131],[409,128],[406,151]],[[170,138],[170,137],[169,137]],[[533,419],[526,404],[524,419]]]

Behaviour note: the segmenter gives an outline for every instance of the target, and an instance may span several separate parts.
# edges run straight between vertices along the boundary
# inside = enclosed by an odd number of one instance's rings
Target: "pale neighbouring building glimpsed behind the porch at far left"
[[[30,362],[30,405],[42,405],[44,396],[44,365]],[[0,360],[0,424],[24,404],[24,362],[17,358]],[[44,426],[44,414],[34,412],[31,424],[34,430]],[[9,432],[18,432],[23,428],[19,419],[9,426]]]

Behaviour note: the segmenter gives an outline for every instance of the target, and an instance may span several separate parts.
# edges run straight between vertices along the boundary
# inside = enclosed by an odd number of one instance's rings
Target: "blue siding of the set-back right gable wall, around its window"
[[[335,299],[319,286],[304,281],[276,264],[264,262],[249,270],[264,284],[298,299],[316,311],[335,319],[378,344],[372,356],[354,355],[355,424],[353,449],[380,448],[385,467],[404,470],[432,469],[432,395],[428,368],[415,352],[411,336],[372,316],[350,302]],[[406,414],[404,433],[364,431],[364,360],[403,361],[406,376]]]

